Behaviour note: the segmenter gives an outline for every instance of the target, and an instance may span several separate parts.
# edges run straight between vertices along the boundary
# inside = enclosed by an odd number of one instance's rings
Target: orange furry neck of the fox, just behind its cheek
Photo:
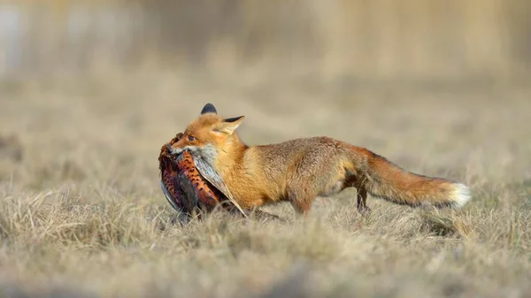
[[[227,177],[234,173],[238,166],[242,166],[242,159],[245,150],[249,149],[237,134],[232,134],[227,138],[223,147],[219,148],[217,158],[213,164],[221,177]]]

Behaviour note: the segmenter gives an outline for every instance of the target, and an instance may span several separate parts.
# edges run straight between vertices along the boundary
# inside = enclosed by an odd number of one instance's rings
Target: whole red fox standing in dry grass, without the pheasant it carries
[[[326,136],[248,146],[235,133],[244,118],[222,118],[207,103],[170,148],[172,154],[189,149],[203,157],[244,209],[288,201],[307,216],[317,196],[347,187],[357,189],[360,213],[370,210],[367,194],[412,207],[460,208],[470,200],[464,184],[404,171],[368,149]]]

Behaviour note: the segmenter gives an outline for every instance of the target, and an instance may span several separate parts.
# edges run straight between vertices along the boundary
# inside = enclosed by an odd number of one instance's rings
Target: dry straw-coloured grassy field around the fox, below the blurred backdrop
[[[531,88],[175,73],[4,81],[0,297],[527,297]],[[329,135],[472,188],[463,210],[355,190],[289,223],[175,224],[158,150],[212,102],[249,144]],[[10,137],[16,135],[17,137]]]

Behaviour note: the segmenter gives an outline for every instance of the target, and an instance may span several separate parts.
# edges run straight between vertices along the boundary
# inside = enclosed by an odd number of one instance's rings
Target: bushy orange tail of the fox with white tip
[[[366,191],[389,202],[419,206],[463,207],[470,191],[462,183],[407,172],[385,157],[367,155]]]

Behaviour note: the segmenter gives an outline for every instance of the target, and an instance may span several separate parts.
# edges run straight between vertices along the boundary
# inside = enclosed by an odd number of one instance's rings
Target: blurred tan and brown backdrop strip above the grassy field
[[[530,17],[519,0],[3,1],[0,78],[512,80],[531,73]]]

